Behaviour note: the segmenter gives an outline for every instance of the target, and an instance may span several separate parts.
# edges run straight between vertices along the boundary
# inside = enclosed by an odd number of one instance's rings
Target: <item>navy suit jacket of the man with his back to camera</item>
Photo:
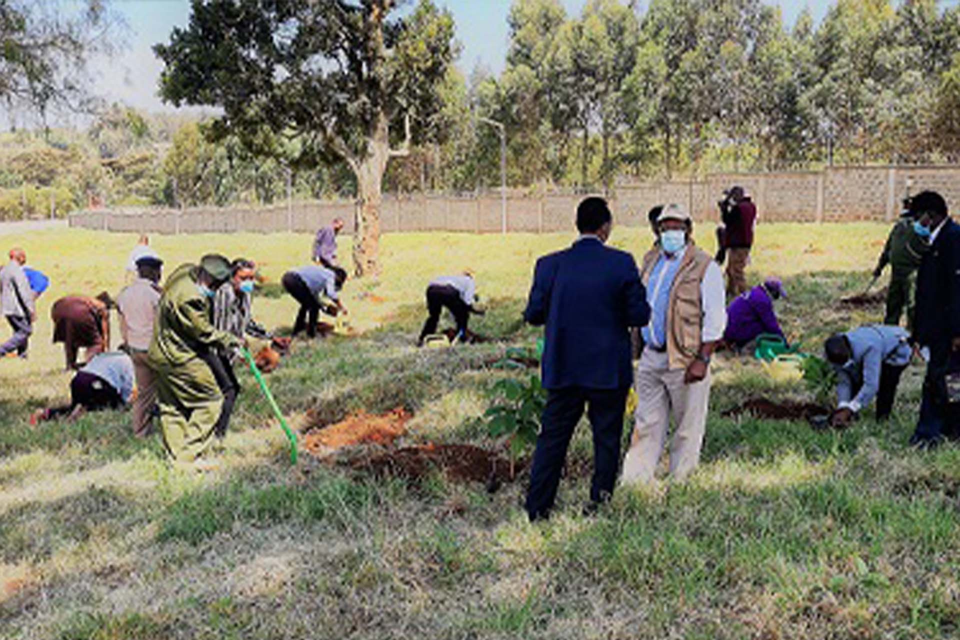
[[[584,238],[537,261],[523,318],[546,325],[545,389],[626,389],[628,327],[646,325],[650,307],[634,256]]]

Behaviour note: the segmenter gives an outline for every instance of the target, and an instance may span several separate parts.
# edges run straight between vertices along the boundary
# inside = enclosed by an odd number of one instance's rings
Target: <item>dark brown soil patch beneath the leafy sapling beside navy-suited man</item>
[[[516,480],[526,461],[516,461],[512,477],[510,461],[487,449],[470,444],[426,444],[388,451],[349,464],[357,470],[411,480],[438,470],[451,482],[486,483],[493,491],[502,483]]]

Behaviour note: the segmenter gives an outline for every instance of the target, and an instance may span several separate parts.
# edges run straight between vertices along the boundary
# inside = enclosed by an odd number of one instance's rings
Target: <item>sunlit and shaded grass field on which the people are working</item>
[[[867,284],[886,226],[761,225],[750,276],[780,274],[787,332],[808,348],[831,330],[879,320],[839,296]],[[708,229],[704,244],[712,249]],[[305,235],[156,237],[168,266],[219,250],[271,282],[305,262]],[[414,412],[404,443],[493,446],[477,416],[485,367],[538,332],[518,320],[533,262],[570,235],[404,234],[383,240],[382,277],[348,282],[358,338],[300,344],[270,383],[295,426],[348,412]],[[435,475],[376,479],[303,456],[244,374],[217,471],[168,468],[129,415],[31,430],[64,401],[69,376],[50,344],[49,306],[115,293],[130,235],[78,230],[0,236],[49,273],[31,358],[0,360],[0,637],[159,638],[952,638],[960,635],[960,450],[906,446],[921,367],[895,415],[867,412],[842,433],[800,421],[720,414],[756,394],[804,398],[747,360],[720,359],[704,462],[683,486],[619,491],[588,519],[588,430],[550,523],[531,526],[524,483],[489,494]],[[637,256],[646,231],[617,228]],[[348,248],[348,239],[341,245]],[[4,248],[6,249],[6,247]],[[346,251],[344,251],[346,253]],[[491,311],[473,328],[501,340],[418,350],[430,277],[470,267]],[[289,326],[286,297],[255,316]],[[0,330],[0,338],[8,335]],[[308,418],[308,416],[311,416]]]

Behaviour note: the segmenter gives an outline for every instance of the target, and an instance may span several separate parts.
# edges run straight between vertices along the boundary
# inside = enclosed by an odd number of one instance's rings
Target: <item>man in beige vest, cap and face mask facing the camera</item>
[[[636,428],[623,462],[623,483],[649,483],[676,422],[670,475],[683,480],[700,462],[710,393],[709,362],[727,325],[723,273],[693,242],[693,221],[668,204],[660,247],[643,258],[640,278],[651,308],[636,367]]]

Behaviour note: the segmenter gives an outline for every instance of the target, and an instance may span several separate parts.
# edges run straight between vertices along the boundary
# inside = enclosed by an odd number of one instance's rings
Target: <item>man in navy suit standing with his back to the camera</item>
[[[566,449],[588,407],[593,428],[593,482],[588,511],[610,500],[620,462],[627,392],[633,382],[628,327],[650,319],[634,256],[604,246],[612,216],[602,198],[577,207],[580,237],[573,246],[537,261],[523,314],[546,326],[540,437],[530,474],[530,520],[549,517]]]

